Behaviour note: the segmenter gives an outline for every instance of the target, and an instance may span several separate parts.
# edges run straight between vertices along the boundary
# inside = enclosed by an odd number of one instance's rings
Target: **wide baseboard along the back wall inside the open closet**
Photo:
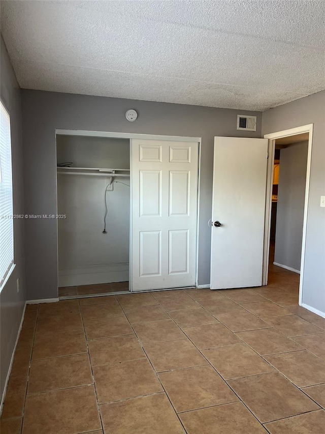
[[[126,282],[129,279],[128,263],[107,264],[71,270],[59,270],[59,287],[96,285]]]

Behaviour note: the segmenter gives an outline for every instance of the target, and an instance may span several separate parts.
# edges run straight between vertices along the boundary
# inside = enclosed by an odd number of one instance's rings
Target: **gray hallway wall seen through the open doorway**
[[[274,262],[300,271],[308,141],[280,152]]]

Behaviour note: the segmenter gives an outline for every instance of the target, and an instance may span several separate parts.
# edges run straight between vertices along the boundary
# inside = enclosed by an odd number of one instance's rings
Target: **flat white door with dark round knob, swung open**
[[[262,285],[267,152],[267,139],[214,138],[211,289]]]

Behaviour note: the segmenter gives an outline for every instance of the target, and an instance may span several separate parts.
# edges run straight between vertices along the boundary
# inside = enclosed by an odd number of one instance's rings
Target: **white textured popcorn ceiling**
[[[21,88],[247,110],[325,89],[323,0],[1,7]]]

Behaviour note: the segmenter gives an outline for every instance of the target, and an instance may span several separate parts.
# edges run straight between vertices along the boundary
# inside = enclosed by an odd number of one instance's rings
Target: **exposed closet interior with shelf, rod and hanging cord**
[[[56,136],[59,298],[129,290],[129,139]]]

